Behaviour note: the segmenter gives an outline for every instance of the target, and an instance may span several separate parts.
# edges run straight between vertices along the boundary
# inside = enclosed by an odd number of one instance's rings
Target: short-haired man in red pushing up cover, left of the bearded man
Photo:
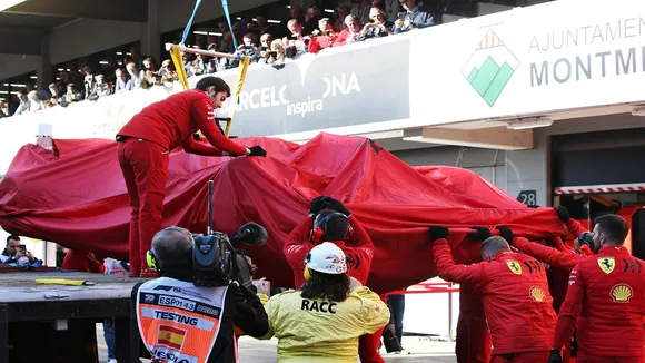
[[[504,235],[513,232],[504,226]],[[476,228],[477,235],[490,230]],[[453,259],[448,228],[430,227],[435,269],[448,282],[468,283],[483,293],[484,313],[493,341],[492,363],[544,363],[555,331],[553,298],[546,272],[535,258],[514,253],[503,237],[482,238],[484,262],[457,265]]]

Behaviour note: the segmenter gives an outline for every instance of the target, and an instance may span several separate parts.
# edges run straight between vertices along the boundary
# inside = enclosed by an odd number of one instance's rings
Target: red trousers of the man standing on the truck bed
[[[161,230],[168,179],[168,150],[155,143],[127,138],[117,148],[132,213],[130,217],[130,276],[147,268],[146,254]],[[146,265],[142,265],[146,264]]]

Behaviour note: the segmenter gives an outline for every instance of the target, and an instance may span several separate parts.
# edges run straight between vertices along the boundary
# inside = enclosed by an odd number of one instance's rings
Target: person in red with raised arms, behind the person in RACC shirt
[[[294,269],[296,288],[305,283],[307,254],[322,242],[336,244],[347,257],[347,274],[367,286],[367,277],[374,258],[374,243],[363,226],[347,208],[331,197],[320,196],[311,202],[307,219],[302,220],[287,238],[284,252]],[[358,354],[363,363],[384,363],[378,353],[383,328],[360,336]]]

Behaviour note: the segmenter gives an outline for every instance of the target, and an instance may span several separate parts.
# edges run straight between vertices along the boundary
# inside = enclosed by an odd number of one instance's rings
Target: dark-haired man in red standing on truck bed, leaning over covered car
[[[132,206],[130,276],[157,276],[155,271],[142,268],[141,262],[152,237],[161,230],[168,154],[172,149],[181,146],[187,153],[204,156],[266,156],[260,146],[244,147],[221,133],[214,112],[228,97],[230,88],[221,78],[205,77],[196,89],[146,107],[117,134],[119,164]],[[212,146],[194,139],[198,130]]]

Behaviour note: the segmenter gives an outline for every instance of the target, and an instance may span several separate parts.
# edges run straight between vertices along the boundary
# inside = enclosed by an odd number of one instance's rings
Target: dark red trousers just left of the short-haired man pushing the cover
[[[459,313],[459,320],[457,321],[457,343],[455,344],[457,362],[488,363],[490,346],[490,334],[488,334],[484,312],[479,316]]]

